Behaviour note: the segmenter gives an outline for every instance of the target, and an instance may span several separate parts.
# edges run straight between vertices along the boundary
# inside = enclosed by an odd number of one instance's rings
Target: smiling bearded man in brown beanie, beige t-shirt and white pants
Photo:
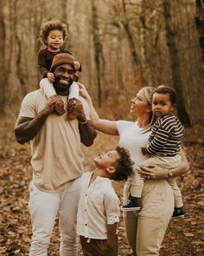
[[[54,56],[52,71],[54,89],[67,105],[67,95],[75,70],[73,56],[62,53]],[[16,121],[16,141],[30,141],[33,178],[29,184],[29,213],[32,223],[32,241],[29,256],[48,255],[48,245],[59,213],[61,256],[78,255],[76,216],[80,199],[80,176],[84,173],[80,141],[91,146],[96,136],[87,121],[88,106],[82,98],[69,102],[76,110],[76,118],[67,119],[67,113],[56,115],[54,98],[47,98],[42,89],[26,95]],[[66,109],[67,112],[67,109]]]

